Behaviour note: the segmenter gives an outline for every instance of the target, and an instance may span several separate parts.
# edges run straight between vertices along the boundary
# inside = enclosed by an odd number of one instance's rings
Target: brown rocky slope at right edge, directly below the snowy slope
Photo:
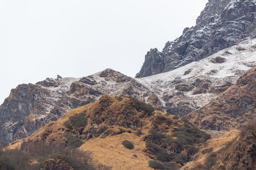
[[[203,108],[186,115],[200,129],[228,131],[240,129],[256,113],[256,67],[246,71],[225,92]]]

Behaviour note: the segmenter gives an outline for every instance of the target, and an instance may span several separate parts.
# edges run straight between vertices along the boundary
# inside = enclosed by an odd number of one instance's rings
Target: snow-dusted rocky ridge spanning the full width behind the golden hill
[[[131,78],[106,69],[83,78],[47,78],[12,89],[0,106],[0,136],[6,143],[26,138],[45,124],[102,94],[132,96],[182,117],[205,106],[256,66],[256,39],[168,73]]]

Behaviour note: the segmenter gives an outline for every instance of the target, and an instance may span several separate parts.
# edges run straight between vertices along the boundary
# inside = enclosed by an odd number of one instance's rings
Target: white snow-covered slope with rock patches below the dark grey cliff
[[[254,66],[256,39],[251,39],[173,71],[136,80],[163,99],[168,113],[183,116],[209,103]]]

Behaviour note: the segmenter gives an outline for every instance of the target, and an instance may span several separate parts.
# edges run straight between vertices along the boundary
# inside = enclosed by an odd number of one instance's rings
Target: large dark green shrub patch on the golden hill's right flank
[[[168,121],[167,117],[161,115],[156,118],[163,122]],[[177,120],[173,121],[173,124],[174,122],[177,122]],[[195,125],[189,123],[188,120],[182,119],[182,122],[183,125],[179,125],[179,128],[176,128],[172,135],[162,134],[157,129],[149,131],[150,136],[148,136],[146,145],[148,148],[147,153],[161,162],[161,165],[166,167],[168,167],[167,164],[183,166],[198,152],[198,144],[202,144],[210,138],[208,134],[200,131]],[[155,162],[155,164],[157,163]],[[172,169],[176,168],[176,166],[172,166]]]

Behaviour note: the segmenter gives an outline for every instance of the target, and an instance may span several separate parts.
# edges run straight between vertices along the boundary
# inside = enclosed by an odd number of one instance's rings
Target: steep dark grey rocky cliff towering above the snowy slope
[[[137,78],[171,71],[256,36],[254,0],[209,0],[182,36],[167,42],[162,52],[152,49],[145,56]]]

